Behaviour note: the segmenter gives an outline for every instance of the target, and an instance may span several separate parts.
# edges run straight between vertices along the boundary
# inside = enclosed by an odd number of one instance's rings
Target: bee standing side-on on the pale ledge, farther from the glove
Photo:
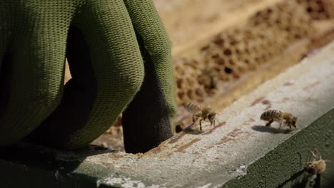
[[[269,126],[273,121],[280,122],[280,127],[282,127],[283,123],[286,126],[297,128],[297,117],[291,115],[290,113],[283,113],[279,110],[268,110],[265,111],[261,117],[261,120],[268,121],[265,126]]]

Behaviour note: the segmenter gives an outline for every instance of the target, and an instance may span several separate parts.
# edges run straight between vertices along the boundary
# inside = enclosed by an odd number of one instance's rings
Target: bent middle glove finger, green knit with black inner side
[[[73,78],[38,140],[77,148],[105,132],[143,82],[143,60],[123,1],[83,6],[69,32],[67,57]]]

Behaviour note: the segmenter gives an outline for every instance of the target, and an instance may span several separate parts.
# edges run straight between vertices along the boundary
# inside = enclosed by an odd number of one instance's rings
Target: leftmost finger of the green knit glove
[[[74,10],[69,4],[30,3],[18,4],[9,18],[15,21],[5,61],[10,90],[4,91],[9,98],[0,116],[0,145],[38,127],[59,104],[64,85],[66,33]]]

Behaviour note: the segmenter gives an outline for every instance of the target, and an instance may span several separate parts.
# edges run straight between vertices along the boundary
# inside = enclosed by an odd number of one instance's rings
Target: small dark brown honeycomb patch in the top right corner
[[[305,6],[306,11],[312,19],[333,19],[334,1],[333,0],[296,0],[299,4]]]

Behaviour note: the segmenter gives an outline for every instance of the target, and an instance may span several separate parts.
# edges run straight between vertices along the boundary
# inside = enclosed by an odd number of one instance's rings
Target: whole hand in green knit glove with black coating
[[[126,152],[172,135],[171,45],[151,0],[2,0],[0,70],[0,146],[83,147],[122,112]]]

